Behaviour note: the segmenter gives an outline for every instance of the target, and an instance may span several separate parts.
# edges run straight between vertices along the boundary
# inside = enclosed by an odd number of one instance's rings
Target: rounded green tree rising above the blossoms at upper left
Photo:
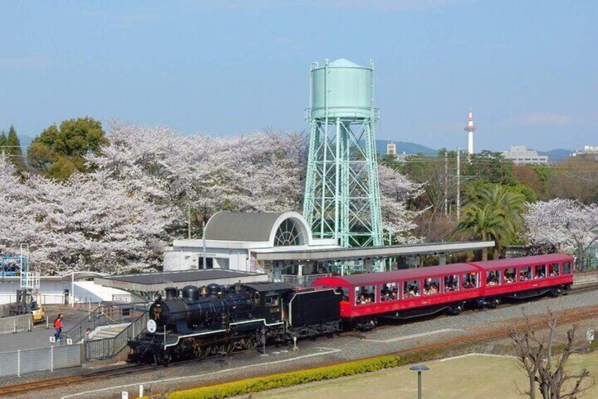
[[[32,141],[27,153],[30,166],[47,177],[64,180],[85,172],[85,155],[99,152],[108,143],[102,124],[90,117],[52,125]]]

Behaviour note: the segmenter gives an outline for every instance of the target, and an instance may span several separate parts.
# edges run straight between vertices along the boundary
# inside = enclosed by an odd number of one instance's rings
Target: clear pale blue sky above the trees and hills
[[[310,64],[375,63],[377,138],[598,145],[594,0],[0,0],[0,129],[308,131]]]

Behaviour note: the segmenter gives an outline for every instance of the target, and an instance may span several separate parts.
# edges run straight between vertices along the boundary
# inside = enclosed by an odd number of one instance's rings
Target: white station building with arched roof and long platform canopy
[[[240,270],[264,273],[274,281],[309,285],[310,280],[343,274],[347,268],[368,272],[380,262],[391,269],[417,267],[420,256],[426,254],[439,256],[439,263],[444,264],[450,252],[494,246],[493,241],[484,241],[343,248],[336,239],[314,237],[303,215],[291,211],[222,211],[209,219],[204,237],[174,240],[164,253],[164,271]]]

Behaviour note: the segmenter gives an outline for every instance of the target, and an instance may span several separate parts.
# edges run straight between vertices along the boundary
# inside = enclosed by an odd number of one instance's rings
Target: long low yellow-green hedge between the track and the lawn
[[[436,357],[440,352],[441,350],[427,350],[407,354],[403,357],[384,355],[372,359],[335,364],[333,366],[273,374],[271,376],[222,383],[215,386],[203,386],[172,393],[169,399],[221,399],[246,395],[248,393],[269,391],[276,388],[288,388],[302,383],[338,379],[338,377],[370,373],[372,371],[403,366],[412,362],[422,362]]]

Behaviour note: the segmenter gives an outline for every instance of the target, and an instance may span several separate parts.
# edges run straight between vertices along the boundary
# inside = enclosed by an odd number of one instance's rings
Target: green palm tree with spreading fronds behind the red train
[[[493,239],[494,259],[498,259],[501,246],[515,239],[523,229],[524,212],[525,197],[508,186],[496,184],[470,197],[455,231],[482,240]],[[487,258],[488,251],[484,249],[482,259]]]

